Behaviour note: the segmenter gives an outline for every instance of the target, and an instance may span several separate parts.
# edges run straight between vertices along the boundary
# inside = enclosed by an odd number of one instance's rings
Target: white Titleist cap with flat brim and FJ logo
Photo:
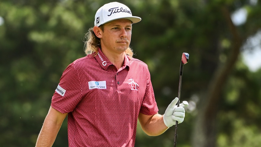
[[[116,19],[129,19],[132,23],[141,21],[140,17],[132,16],[130,8],[119,2],[110,2],[99,8],[95,14],[94,26],[100,26]]]

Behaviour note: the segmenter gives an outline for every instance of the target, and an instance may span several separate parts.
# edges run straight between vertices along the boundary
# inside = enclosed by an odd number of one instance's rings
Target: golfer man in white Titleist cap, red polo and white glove
[[[175,98],[158,114],[148,67],[132,58],[132,24],[140,20],[118,2],[97,10],[86,34],[87,56],[64,70],[36,146],[52,146],[67,115],[70,147],[133,147],[137,119],[151,136],[183,122],[187,102],[177,107]]]

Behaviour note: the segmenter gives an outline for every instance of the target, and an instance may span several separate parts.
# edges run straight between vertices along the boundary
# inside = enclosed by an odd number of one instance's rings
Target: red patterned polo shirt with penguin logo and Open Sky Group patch
[[[64,70],[51,106],[68,112],[70,147],[134,147],[139,113],[158,112],[147,65],[125,55],[117,70],[100,49]]]

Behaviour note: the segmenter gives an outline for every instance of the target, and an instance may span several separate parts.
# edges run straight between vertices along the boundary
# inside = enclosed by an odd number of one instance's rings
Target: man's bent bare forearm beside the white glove
[[[141,118],[143,115],[144,114],[140,113],[139,118]],[[141,125],[142,130],[150,136],[160,135],[169,128],[164,124],[163,115],[160,114],[152,115],[146,122],[140,121],[140,123],[143,123]]]

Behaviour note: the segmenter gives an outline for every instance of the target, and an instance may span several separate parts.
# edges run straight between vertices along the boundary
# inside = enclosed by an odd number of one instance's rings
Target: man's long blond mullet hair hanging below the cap
[[[104,30],[104,26],[100,26],[102,32]],[[86,55],[92,54],[93,56],[96,56],[98,54],[98,48],[101,48],[101,40],[98,38],[94,31],[93,27],[89,28],[88,33],[84,36],[84,52]],[[86,41],[85,41],[86,40]],[[130,58],[133,56],[133,51],[130,48],[130,46],[126,49],[125,54],[130,56]]]

